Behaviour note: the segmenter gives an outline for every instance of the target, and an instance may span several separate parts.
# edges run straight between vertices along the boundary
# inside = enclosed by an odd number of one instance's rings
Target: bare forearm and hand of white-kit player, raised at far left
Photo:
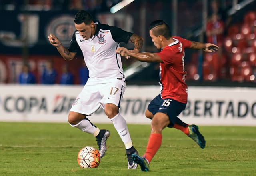
[[[61,44],[60,40],[53,34],[50,34],[48,36],[48,39],[50,44],[57,48],[58,52],[65,60],[72,60],[76,56],[76,52],[70,52]]]

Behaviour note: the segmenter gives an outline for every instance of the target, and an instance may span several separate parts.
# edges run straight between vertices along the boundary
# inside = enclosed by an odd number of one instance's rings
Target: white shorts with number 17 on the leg
[[[120,108],[120,102],[126,89],[125,78],[113,78],[110,80],[97,81],[90,79],[86,82],[83,90],[77,96],[70,111],[80,114],[91,115],[100,106],[105,109],[105,104],[112,103]]]

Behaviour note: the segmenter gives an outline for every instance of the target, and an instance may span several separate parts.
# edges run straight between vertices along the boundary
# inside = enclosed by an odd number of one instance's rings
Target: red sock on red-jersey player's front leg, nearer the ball
[[[161,143],[162,143],[162,134],[159,134],[159,133],[150,134],[148,139],[147,150],[146,150],[146,153],[143,155],[148,160],[148,162],[151,162],[157,150],[160,148]]]

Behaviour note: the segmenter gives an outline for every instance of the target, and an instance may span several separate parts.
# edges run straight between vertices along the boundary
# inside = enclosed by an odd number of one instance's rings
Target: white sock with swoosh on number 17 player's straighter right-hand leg
[[[129,133],[125,119],[120,114],[117,114],[110,120],[113,122],[114,127],[116,128],[116,131],[118,132],[120,138],[124,142],[125,148],[126,149],[131,148],[132,139],[130,137],[130,133]]]

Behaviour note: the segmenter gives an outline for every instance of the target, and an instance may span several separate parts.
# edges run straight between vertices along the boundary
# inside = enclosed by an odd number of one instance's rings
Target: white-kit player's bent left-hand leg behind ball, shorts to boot
[[[72,127],[93,134],[96,137],[100,157],[102,158],[106,152],[106,140],[110,136],[110,132],[97,128],[86,118],[87,115],[84,115],[92,114],[100,107],[101,96],[97,89],[97,85],[84,86],[84,89],[80,92],[70,109],[68,122],[70,122]]]

